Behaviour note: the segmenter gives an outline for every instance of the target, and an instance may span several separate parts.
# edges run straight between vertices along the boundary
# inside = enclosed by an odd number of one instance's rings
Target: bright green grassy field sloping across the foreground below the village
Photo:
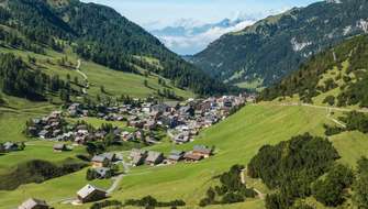
[[[188,208],[197,208],[205,190],[216,184],[214,176],[227,170],[234,164],[246,165],[265,144],[276,144],[295,134],[311,132],[323,135],[323,123],[331,123],[323,109],[311,107],[282,107],[277,103],[249,105],[225,121],[203,131],[193,143],[175,146],[163,143],[150,147],[166,154],[171,148],[190,150],[193,144],[215,146],[215,155],[197,164],[180,163],[170,166],[142,166],[124,176],[112,199],[125,200],[152,195],[159,200],[183,199]],[[360,155],[367,155],[368,139],[358,132],[343,133],[331,139],[339,154],[341,162],[355,165]],[[354,147],[354,148],[352,148]],[[355,152],[352,152],[354,150]],[[1,158],[0,158],[1,161]],[[24,197],[38,197],[53,202],[56,208],[70,208],[58,200],[74,196],[85,182],[85,172],[52,179],[41,185],[25,185],[11,193],[0,193],[8,206],[16,206]],[[250,183],[250,182],[249,182]],[[97,183],[108,187],[108,183]],[[253,180],[255,188],[267,190]],[[53,189],[59,188],[59,189]],[[53,190],[53,194],[49,194]],[[22,194],[22,195],[20,195]],[[88,205],[76,208],[88,208]],[[264,208],[260,199],[248,199],[243,204],[209,208]]]

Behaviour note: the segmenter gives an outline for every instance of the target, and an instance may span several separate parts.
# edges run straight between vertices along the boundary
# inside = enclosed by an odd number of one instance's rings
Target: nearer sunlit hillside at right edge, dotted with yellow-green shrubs
[[[367,108],[367,66],[368,35],[359,35],[313,55],[299,70],[265,89],[259,99]]]

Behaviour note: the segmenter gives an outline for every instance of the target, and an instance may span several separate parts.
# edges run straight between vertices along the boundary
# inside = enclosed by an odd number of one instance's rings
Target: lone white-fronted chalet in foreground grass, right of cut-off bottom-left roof
[[[86,185],[77,193],[78,200],[82,204],[98,201],[107,198],[107,191],[92,185]]]

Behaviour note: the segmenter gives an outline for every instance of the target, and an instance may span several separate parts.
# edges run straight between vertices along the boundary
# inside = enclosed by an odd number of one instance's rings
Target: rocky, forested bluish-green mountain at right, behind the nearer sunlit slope
[[[192,62],[224,81],[269,86],[298,69],[311,55],[367,32],[367,1],[322,1],[225,34],[194,55]]]

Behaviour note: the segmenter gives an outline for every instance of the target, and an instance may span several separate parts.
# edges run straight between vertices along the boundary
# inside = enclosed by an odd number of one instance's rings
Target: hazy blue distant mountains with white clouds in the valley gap
[[[181,55],[192,55],[204,50],[221,35],[243,30],[254,22],[256,22],[254,18],[224,19],[220,22],[207,24],[182,20],[176,25],[152,30],[150,33],[171,51]]]

